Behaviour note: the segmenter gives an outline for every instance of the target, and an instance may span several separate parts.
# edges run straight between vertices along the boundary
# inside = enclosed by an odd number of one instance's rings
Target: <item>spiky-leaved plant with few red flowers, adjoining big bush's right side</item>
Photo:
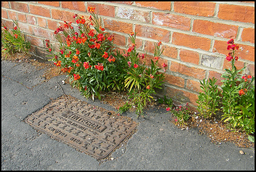
[[[158,60],[159,56],[162,54],[160,45],[162,42],[154,43],[154,59],[151,59],[150,68],[146,68],[145,60],[140,64],[140,58],[143,60],[146,58],[146,54],[139,55],[136,52],[136,33],[132,32],[130,35],[130,41],[132,46],[129,46],[128,52],[125,53],[127,61],[127,75],[125,76],[125,87],[129,90],[129,100],[126,104],[119,108],[119,112],[123,113],[124,111],[136,107],[136,114],[144,118],[143,109],[146,106],[147,101],[151,102],[153,100],[152,94],[155,93],[155,88],[160,88],[164,83],[164,73],[159,73],[158,71]],[[166,70],[167,64],[162,64]],[[165,71],[164,70],[164,71]]]

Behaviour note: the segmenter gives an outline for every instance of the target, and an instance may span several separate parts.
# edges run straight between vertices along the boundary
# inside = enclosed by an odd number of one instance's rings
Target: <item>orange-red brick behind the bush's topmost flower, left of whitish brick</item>
[[[105,4],[95,4],[95,3],[91,3],[91,2],[87,2],[87,6],[94,7],[95,14],[99,14],[102,16],[115,17],[115,7],[114,6],[105,5]]]

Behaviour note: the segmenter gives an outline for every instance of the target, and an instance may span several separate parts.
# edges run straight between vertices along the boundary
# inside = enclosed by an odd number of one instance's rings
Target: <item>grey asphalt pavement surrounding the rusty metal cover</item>
[[[138,119],[125,112],[138,123],[136,132],[104,162],[38,133],[24,120],[63,91],[116,111],[98,99],[87,100],[70,84],[61,84],[65,75],[43,82],[45,70],[26,62],[2,61],[2,170],[254,170],[254,148],[230,142],[216,145],[196,128],[181,130],[168,122],[170,114],[164,109],[146,110],[146,118]]]

